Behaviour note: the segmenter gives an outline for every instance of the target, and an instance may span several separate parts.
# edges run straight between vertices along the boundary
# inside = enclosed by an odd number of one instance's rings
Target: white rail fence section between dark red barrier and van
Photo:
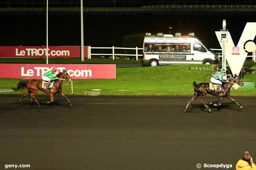
[[[112,49],[112,53],[91,53],[91,49]],[[115,53],[115,49],[134,49],[136,54],[117,54]],[[142,50],[143,48],[121,48],[121,47],[91,47],[88,46],[88,59],[91,59],[92,55],[112,55],[113,60],[115,60],[115,56],[136,56],[136,60],[138,60],[138,56],[142,56],[142,54],[138,54],[138,50]]]

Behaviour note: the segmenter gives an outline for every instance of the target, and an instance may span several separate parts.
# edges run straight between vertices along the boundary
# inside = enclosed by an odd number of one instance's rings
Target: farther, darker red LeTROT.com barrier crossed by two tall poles
[[[0,57],[45,58],[46,46],[0,46]],[[81,58],[81,46],[49,46],[49,58]],[[88,46],[84,46],[84,58]]]

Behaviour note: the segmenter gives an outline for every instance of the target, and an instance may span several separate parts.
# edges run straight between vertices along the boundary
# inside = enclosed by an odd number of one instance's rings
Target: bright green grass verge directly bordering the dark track
[[[211,65],[117,68],[116,79],[74,80],[73,91],[74,94],[85,94],[92,89],[102,89],[100,95],[193,95],[193,81],[209,82],[212,71],[189,69],[192,67],[203,68]],[[247,74],[243,79],[256,82],[256,75]],[[16,87],[19,80],[21,79],[0,79],[0,89]],[[63,92],[71,93],[70,82],[63,83]],[[18,91],[13,94],[21,93],[22,91]],[[232,90],[231,95],[256,96],[256,88]]]

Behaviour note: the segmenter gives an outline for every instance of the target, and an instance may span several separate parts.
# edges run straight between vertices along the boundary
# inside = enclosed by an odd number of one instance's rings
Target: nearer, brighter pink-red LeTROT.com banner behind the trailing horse
[[[72,79],[115,79],[115,64],[0,64],[0,78],[41,79],[56,67],[65,69]]]

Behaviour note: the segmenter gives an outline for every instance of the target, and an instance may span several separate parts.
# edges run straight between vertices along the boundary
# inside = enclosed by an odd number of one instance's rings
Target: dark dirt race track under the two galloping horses
[[[19,97],[0,95],[0,170],[234,170],[245,151],[256,160],[256,97],[234,97],[243,108],[223,99],[211,113],[200,98],[184,113],[190,97],[68,96],[72,108],[56,97],[40,109]]]

